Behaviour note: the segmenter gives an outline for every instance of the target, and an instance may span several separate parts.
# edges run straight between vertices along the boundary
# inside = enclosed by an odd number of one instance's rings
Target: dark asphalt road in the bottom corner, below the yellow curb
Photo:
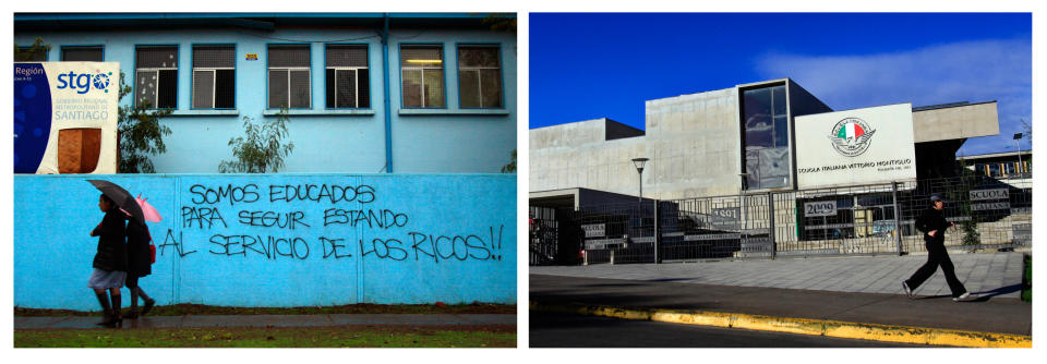
[[[926,348],[926,345],[530,312],[531,348]]]

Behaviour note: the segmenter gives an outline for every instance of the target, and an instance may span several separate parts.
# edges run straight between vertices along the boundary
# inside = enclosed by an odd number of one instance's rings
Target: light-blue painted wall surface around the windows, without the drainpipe
[[[382,45],[377,28],[362,26],[277,27],[273,32],[234,27],[212,29],[141,29],[97,32],[26,32],[14,35],[19,45],[36,37],[51,46],[49,61],[61,59],[63,46],[104,45],[105,61],[120,62],[125,82],[134,75],[135,45],[178,45],[178,109],[163,124],[167,153],[154,157],[160,173],[215,173],[222,159],[231,160],[227,145],[243,133],[242,118],[272,118],[266,110],[266,46],[308,41],[312,50],[312,108],[292,110],[289,124],[294,150],[281,172],[386,172],[385,113],[392,113],[394,172],[496,173],[516,148],[516,34],[486,29],[392,28],[389,36],[390,108],[385,110]],[[365,44],[371,64],[371,108],[328,110],[325,106],[325,43]],[[400,109],[400,44],[441,44],[444,49],[447,108]],[[192,45],[236,44],[234,112],[191,110]],[[502,59],[504,108],[461,109],[458,100],[457,45],[495,44]],[[245,60],[257,53],[257,61]],[[122,105],[131,105],[124,97]]]

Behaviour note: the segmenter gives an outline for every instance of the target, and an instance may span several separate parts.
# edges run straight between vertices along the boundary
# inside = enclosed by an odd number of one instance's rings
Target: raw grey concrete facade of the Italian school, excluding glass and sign
[[[738,194],[744,170],[741,95],[782,84],[787,97],[790,181],[783,187],[747,191],[795,190],[794,118],[833,110],[792,80],[782,78],[648,100],[646,130],[625,137],[610,137],[607,131],[622,124],[607,119],[531,130],[530,191],[583,187],[635,195],[639,182],[631,159],[647,157],[643,197]],[[954,153],[967,137],[999,133],[995,101],[917,108],[913,124],[918,150],[946,146]]]

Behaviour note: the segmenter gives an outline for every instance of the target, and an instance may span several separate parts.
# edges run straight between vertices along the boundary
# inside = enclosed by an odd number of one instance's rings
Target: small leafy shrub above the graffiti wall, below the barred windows
[[[244,136],[238,136],[229,139],[232,146],[232,155],[237,160],[222,160],[218,165],[218,171],[221,173],[266,173],[279,172],[284,168],[284,158],[294,149],[294,143],[284,144],[284,138],[288,136],[287,107],[280,108],[280,113],[276,119],[269,119],[257,125],[254,119],[243,117]]]

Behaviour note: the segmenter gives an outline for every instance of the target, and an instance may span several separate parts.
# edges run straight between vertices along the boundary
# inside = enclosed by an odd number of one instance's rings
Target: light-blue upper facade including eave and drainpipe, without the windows
[[[27,46],[43,38],[51,46],[47,61],[60,61],[63,48],[101,46],[104,61],[120,62],[129,85],[134,84],[137,46],[177,46],[177,107],[160,121],[172,133],[164,137],[167,151],[152,158],[159,173],[217,172],[220,161],[233,159],[227,144],[243,135],[244,117],[255,122],[275,118],[278,110],[267,105],[266,72],[268,46],[278,44],[308,44],[311,63],[310,107],[290,110],[287,142],[294,150],[280,172],[497,173],[517,143],[516,33],[493,31],[483,19],[454,13],[20,13],[14,43]],[[388,62],[382,40],[386,20]],[[234,45],[232,109],[192,107],[193,47],[213,44]],[[325,105],[325,47],[332,44],[366,47],[370,107]],[[408,45],[442,49],[444,107],[402,106],[400,48]],[[458,49],[466,45],[497,49],[501,107],[461,106]],[[123,105],[132,105],[132,97],[124,97]]]

